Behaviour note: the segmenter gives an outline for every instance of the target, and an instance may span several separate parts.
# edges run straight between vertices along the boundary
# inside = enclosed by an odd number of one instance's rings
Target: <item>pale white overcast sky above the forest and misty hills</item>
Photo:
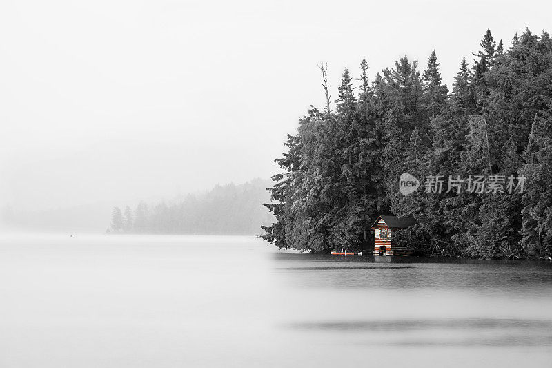
[[[277,171],[348,66],[437,50],[451,84],[489,27],[551,30],[548,1],[3,1],[0,205],[135,201]],[[334,90],[333,99],[337,96]]]

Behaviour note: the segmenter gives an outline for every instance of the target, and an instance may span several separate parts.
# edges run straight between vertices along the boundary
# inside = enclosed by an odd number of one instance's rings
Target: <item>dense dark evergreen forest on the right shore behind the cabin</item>
[[[469,257],[535,258],[552,251],[552,40],[526,30],[504,50],[487,30],[451,90],[435,51],[423,71],[402,57],[368,79],[345,69],[335,108],[321,65],[326,106],[311,106],[275,161],[276,222],[263,238],[280,248],[373,249],[377,215],[412,215],[402,241],[435,240]],[[398,191],[401,173],[526,175],[524,193]]]

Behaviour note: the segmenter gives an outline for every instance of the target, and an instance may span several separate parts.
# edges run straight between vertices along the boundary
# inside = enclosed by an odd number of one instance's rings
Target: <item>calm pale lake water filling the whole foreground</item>
[[[0,236],[0,367],[552,367],[552,264]]]

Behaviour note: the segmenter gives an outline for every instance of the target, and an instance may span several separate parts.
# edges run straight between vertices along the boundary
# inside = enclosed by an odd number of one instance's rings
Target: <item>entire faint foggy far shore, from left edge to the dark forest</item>
[[[43,211],[0,213],[1,229],[51,233],[182,233],[257,235],[272,216],[263,203],[270,201],[270,180],[217,185],[193,195],[148,202],[96,202]],[[126,209],[128,205],[128,209]],[[121,213],[119,229],[113,229],[114,207]],[[129,215],[130,214],[130,215]],[[130,221],[128,219],[130,217]]]

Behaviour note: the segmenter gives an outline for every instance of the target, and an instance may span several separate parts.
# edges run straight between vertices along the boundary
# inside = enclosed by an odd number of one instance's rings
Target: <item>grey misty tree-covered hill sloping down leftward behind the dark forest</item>
[[[268,180],[217,185],[202,195],[188,195],[171,203],[141,202],[135,209],[115,207],[111,233],[257,235],[270,224],[262,206],[268,200]]]

